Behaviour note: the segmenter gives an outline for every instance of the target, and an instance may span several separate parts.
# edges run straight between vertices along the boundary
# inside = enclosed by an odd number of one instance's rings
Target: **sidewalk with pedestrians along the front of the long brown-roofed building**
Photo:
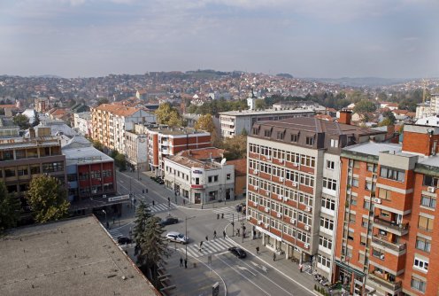
[[[244,222],[244,224],[247,230],[252,229],[252,225],[250,223]],[[231,228],[232,226],[230,224],[227,225],[227,233],[231,233]],[[251,253],[262,261],[266,266],[268,266],[268,269],[276,269],[284,277],[289,278],[295,284],[303,287],[314,295],[321,296],[320,293],[314,291],[314,285],[318,284],[314,280],[314,277],[306,272],[300,272],[298,264],[286,259],[285,254],[276,254],[276,261],[273,261],[273,251],[266,248],[265,245],[262,245],[262,238],[251,239],[251,235],[246,236],[244,239],[243,237],[237,236],[227,238],[233,240],[235,244],[240,245],[247,253]],[[256,253],[256,246],[259,246],[259,254]]]

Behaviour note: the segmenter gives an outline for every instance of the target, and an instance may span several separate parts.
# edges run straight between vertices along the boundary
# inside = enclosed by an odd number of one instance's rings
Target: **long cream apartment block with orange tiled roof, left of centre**
[[[108,151],[126,154],[125,132],[135,129],[135,123],[152,123],[156,115],[143,109],[123,105],[103,104],[91,108],[91,137],[104,144]]]

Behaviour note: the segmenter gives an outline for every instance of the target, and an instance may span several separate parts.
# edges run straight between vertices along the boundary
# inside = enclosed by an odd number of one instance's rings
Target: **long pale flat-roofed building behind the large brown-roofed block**
[[[250,132],[251,127],[258,121],[278,121],[294,117],[312,117],[312,110],[243,110],[219,113],[221,136],[234,137],[241,135],[243,129]]]

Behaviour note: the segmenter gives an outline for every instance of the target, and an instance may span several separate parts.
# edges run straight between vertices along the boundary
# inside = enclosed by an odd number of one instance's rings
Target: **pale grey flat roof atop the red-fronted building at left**
[[[63,149],[62,152],[65,155],[67,166],[73,164],[81,165],[86,163],[112,161],[110,156],[106,155],[104,152],[100,152],[93,146]]]

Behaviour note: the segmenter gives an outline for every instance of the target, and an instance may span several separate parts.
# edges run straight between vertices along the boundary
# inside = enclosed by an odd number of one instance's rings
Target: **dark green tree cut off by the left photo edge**
[[[17,225],[19,220],[19,199],[6,190],[6,185],[0,182],[0,234]]]

